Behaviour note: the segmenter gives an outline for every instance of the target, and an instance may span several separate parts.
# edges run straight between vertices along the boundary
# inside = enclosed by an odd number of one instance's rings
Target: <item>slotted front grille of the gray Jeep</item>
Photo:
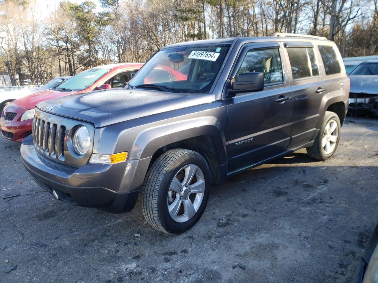
[[[50,123],[39,117],[33,119],[33,141],[37,150],[52,158],[64,161],[66,127]]]

